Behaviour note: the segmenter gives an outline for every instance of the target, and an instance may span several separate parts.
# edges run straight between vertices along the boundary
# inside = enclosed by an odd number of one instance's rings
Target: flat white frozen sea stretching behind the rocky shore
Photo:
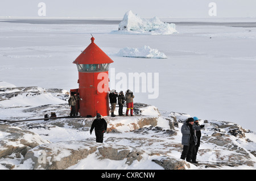
[[[90,44],[92,34],[94,43],[114,61],[110,89],[117,89],[118,75],[152,73],[156,78],[154,73],[158,73],[158,97],[148,99],[152,93],[147,80],[134,92],[134,102],[199,119],[231,121],[256,131],[255,18],[164,19],[176,24],[179,33],[172,35],[115,34],[120,21],[2,18],[0,81],[15,86],[78,88],[72,62]],[[117,56],[122,48],[144,45],[167,58]],[[131,89],[126,81],[126,88]]]

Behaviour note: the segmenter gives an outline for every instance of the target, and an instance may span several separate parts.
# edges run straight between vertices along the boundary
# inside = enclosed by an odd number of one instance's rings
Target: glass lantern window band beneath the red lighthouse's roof
[[[108,71],[109,64],[77,64],[77,69],[81,72]]]

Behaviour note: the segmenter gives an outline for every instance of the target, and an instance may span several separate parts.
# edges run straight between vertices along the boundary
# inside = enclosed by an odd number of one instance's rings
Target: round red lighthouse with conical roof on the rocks
[[[109,115],[109,64],[114,61],[95,43],[92,43],[73,61],[79,71],[79,112],[83,117],[97,113]]]

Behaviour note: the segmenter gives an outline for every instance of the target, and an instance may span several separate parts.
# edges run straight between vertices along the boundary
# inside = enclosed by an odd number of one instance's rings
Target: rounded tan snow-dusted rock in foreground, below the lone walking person
[[[40,145],[28,151],[22,163],[31,159],[32,169],[62,170],[75,165],[96,150],[97,146],[93,143],[80,141]]]

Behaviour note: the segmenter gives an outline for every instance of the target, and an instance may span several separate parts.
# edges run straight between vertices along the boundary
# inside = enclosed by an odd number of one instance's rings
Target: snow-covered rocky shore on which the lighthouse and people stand
[[[2,102],[11,100],[13,104],[19,102],[22,92],[39,102],[44,91],[53,97],[63,93],[39,87],[1,90]],[[0,112],[5,119],[11,113],[13,117],[9,119],[15,120],[51,111],[57,116],[70,112],[67,101],[24,105],[0,107]],[[117,111],[118,108],[116,114]],[[104,117],[108,131],[103,144],[89,133],[94,118],[1,122],[0,169],[255,169],[255,133],[226,121],[200,120],[205,124],[197,154],[200,165],[181,160],[180,128],[188,117],[191,116],[134,103],[133,117]]]

